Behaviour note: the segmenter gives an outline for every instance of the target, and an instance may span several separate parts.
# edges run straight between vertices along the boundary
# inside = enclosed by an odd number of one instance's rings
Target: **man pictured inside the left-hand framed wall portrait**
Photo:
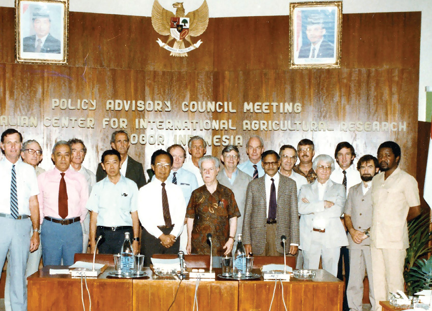
[[[32,53],[61,53],[60,40],[54,38],[49,30],[51,19],[49,12],[40,7],[33,11],[33,29],[35,35],[23,39],[23,51]]]

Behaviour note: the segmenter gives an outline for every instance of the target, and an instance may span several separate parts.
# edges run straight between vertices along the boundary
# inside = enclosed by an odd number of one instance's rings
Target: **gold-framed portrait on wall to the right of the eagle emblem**
[[[340,67],[342,1],[291,3],[290,68]]]

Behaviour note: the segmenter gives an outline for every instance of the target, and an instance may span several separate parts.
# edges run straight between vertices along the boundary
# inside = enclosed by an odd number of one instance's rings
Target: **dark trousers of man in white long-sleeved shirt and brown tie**
[[[172,228],[160,229],[164,235],[169,235]],[[177,238],[176,242],[170,248],[164,247],[160,244],[160,240],[155,238],[145,228],[143,228],[142,242],[141,242],[141,253],[144,257],[144,266],[150,267],[151,257],[153,254],[178,254],[180,249],[180,238]]]

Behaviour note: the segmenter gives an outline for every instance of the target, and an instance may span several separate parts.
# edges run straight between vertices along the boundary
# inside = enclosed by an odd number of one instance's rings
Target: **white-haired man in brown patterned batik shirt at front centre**
[[[218,158],[205,155],[198,161],[204,186],[192,192],[186,209],[187,253],[210,254],[207,234],[212,235],[213,255],[232,251],[240,217],[234,193],[218,183],[221,165]]]

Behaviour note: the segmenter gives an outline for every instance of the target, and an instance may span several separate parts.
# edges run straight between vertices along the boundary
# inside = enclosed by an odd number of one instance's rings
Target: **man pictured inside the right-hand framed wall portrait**
[[[326,28],[322,17],[311,15],[307,20],[306,35],[310,41],[300,48],[299,58],[331,58],[334,57],[334,45],[323,39]]]

